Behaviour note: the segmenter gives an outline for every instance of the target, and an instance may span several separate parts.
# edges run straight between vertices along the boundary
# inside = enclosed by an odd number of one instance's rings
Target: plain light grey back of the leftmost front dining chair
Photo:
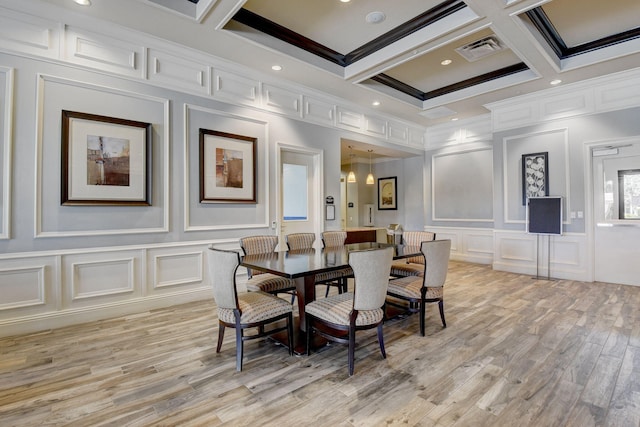
[[[207,251],[209,276],[213,286],[213,298],[218,308],[238,308],[236,293],[236,270],[240,265],[240,254],[235,251],[209,248]]]

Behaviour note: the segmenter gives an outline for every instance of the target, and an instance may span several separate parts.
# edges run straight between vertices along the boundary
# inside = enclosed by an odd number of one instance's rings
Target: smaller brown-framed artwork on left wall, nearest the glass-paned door
[[[200,129],[200,203],[256,203],[257,138]]]

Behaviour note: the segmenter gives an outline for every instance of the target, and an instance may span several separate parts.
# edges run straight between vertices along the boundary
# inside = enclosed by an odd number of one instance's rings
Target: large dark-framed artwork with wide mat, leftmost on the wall
[[[151,123],[62,111],[62,205],[151,205]]]

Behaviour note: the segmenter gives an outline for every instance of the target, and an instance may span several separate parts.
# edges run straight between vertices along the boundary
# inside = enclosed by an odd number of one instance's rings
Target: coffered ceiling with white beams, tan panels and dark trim
[[[640,66],[638,0],[46,1],[423,126]]]

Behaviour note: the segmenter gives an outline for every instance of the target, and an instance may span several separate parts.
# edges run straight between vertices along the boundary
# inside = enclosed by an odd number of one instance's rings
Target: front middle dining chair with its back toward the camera
[[[349,254],[349,265],[355,278],[353,292],[317,299],[305,307],[307,355],[310,352],[313,332],[328,340],[348,344],[351,376],[355,365],[356,331],[377,328],[380,353],[383,358],[387,357],[382,323],[392,259],[391,247],[354,251]]]

